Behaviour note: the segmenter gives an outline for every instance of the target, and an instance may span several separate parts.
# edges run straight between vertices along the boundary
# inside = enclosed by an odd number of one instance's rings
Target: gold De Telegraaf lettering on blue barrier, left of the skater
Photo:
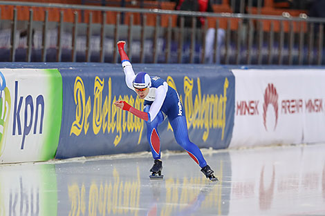
[[[113,133],[117,132],[118,135],[115,136],[113,141],[114,146],[117,146],[124,132],[139,132],[138,144],[140,144],[144,121],[134,115],[124,112],[116,108],[113,104],[113,101],[116,101],[116,96],[118,99],[123,99],[127,101],[131,106],[138,110],[143,108],[143,100],[136,97],[133,99],[132,96],[128,95],[116,95],[112,99],[111,91],[111,77],[108,81],[108,95],[106,95],[104,103],[103,101],[103,90],[104,90],[104,78],[95,77],[94,81],[94,102],[93,109],[91,109],[91,97],[89,96],[86,100],[86,92],[84,88],[84,83],[80,77],[75,79],[75,88],[74,88],[74,98],[76,105],[75,121],[71,126],[70,135],[75,134],[80,135],[82,129],[84,129],[84,134],[86,135],[89,130],[89,115],[93,111],[93,133],[97,135],[100,130],[103,133]]]

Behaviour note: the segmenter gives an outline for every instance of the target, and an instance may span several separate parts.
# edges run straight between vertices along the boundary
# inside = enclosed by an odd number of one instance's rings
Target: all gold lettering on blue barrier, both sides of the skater
[[[172,77],[167,77],[167,83],[171,88],[176,89],[176,84]],[[221,95],[205,95],[201,92],[201,80],[197,78],[197,94],[194,95],[194,79],[184,77],[184,111],[187,117],[187,127],[193,127],[196,129],[204,129],[203,141],[207,141],[212,128],[221,128],[221,139],[224,139],[225,132],[225,110],[227,102],[227,89],[229,87],[229,81],[225,78],[223,85],[223,94]],[[74,99],[76,105],[75,121],[71,126],[70,135],[80,135],[82,129],[86,135],[89,130],[89,115],[93,111],[93,133],[95,135],[102,130],[103,133],[114,133],[117,135],[113,140],[114,146],[117,146],[124,132],[139,132],[138,144],[140,144],[142,132],[145,126],[145,122],[129,112],[124,112],[113,105],[113,101],[116,98],[127,101],[131,106],[138,110],[143,110],[144,101],[136,97],[134,99],[132,95],[112,95],[111,92],[111,77],[108,81],[108,92],[105,96],[103,103],[103,90],[104,79],[95,77],[94,81],[94,102],[93,109],[91,108],[91,97],[86,100],[86,92],[84,83],[80,77],[75,79]],[[113,97],[113,99],[112,99]],[[180,101],[183,102],[182,95],[180,95]],[[168,124],[168,130],[171,129]]]

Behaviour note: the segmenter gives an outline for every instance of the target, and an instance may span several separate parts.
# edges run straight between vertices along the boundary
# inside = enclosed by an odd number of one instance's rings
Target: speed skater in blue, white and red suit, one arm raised
[[[145,100],[143,111],[133,108],[126,101],[115,101],[114,104],[122,110],[127,110],[147,124],[147,139],[154,157],[154,166],[151,177],[161,177],[163,161],[160,159],[160,137],[158,125],[168,117],[171,128],[174,130],[176,142],[187,151],[196,164],[201,167],[202,173],[211,181],[218,181],[214,171],[207,165],[200,148],[189,140],[187,122],[178,92],[171,88],[164,79],[151,77],[146,72],[134,73],[127,53],[124,51],[125,41],[118,41],[118,52],[122,61],[122,68],[127,86],[135,91],[140,99]]]

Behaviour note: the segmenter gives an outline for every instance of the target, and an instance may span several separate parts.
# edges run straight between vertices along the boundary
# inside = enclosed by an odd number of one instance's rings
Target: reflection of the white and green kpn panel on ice
[[[0,166],[0,215],[57,215],[53,164]]]

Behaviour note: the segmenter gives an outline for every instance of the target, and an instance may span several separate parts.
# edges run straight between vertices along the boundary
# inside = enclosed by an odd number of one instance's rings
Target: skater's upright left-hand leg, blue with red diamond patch
[[[149,112],[150,106],[145,107],[145,112]],[[164,121],[163,112],[159,111],[158,115],[153,121],[146,121],[147,124],[147,139],[151,148],[152,157],[160,159],[160,138],[157,127]]]

